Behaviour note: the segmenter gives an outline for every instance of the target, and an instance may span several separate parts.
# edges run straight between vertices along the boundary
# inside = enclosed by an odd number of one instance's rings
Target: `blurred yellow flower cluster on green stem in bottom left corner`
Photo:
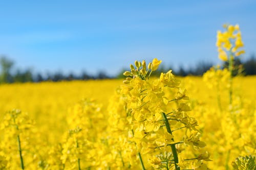
[[[4,115],[3,123],[1,124],[1,130],[8,132],[4,134],[1,141],[1,166],[3,169],[19,169],[25,168],[25,163],[28,163],[27,167],[33,168],[33,162],[36,161],[37,148],[30,148],[31,143],[35,140],[30,138],[33,134],[33,120],[31,120],[28,114],[14,109],[6,112]],[[16,153],[16,154],[13,154]],[[26,156],[26,159],[24,157]],[[17,159],[19,158],[19,159]],[[25,163],[24,163],[25,162]]]

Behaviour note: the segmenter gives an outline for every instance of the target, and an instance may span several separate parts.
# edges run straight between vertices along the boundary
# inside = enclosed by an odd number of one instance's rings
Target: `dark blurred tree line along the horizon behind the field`
[[[42,81],[71,81],[71,80],[91,80],[91,79],[114,79],[123,78],[123,71],[117,76],[110,76],[105,74],[105,72],[100,71],[97,75],[90,75],[86,71],[82,71],[80,74],[63,74],[61,71],[47,73],[46,75],[40,72],[33,72],[32,69],[17,69],[14,67],[14,61],[2,56],[0,57],[0,83],[14,83],[14,82],[42,82]],[[184,68],[180,66],[178,69],[172,69],[170,66],[161,66],[157,71],[154,71],[155,76],[160,75],[161,72],[166,72],[170,69],[173,70],[174,74],[177,76],[202,76],[210,67],[214,65],[210,62],[198,62],[194,67]],[[222,67],[227,67],[228,62],[224,62]],[[245,61],[236,59],[234,62],[234,67],[237,70],[242,70],[243,75],[256,75],[256,59],[254,55]],[[240,72],[240,73],[241,73]],[[234,71],[233,74],[238,74],[238,71]]]

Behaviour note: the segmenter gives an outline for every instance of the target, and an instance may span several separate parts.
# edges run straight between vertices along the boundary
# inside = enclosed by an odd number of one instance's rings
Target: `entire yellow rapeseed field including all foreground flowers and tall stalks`
[[[1,85],[0,169],[254,170],[256,77],[232,76],[243,43],[226,30],[229,67],[203,77],[152,77],[153,59],[125,80]]]

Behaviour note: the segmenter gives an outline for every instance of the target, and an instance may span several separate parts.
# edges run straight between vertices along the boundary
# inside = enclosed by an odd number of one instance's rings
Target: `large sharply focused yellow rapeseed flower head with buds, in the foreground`
[[[202,160],[209,161],[209,154],[201,151],[205,143],[200,141],[197,120],[188,114],[186,90],[180,88],[172,70],[162,73],[159,79],[149,80],[160,63],[154,59],[146,67],[145,61],[135,61],[131,71],[124,72],[127,78],[117,99],[124,101],[121,105],[125,109],[112,111],[113,128],[123,131],[122,127],[126,127],[123,138],[133,146],[142,169],[188,169],[192,164],[189,161],[199,162],[195,169],[207,169]],[[189,154],[189,150],[198,156]]]

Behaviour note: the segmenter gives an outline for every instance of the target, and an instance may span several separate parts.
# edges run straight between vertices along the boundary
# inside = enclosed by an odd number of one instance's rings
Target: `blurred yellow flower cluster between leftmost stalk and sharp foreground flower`
[[[98,149],[104,145],[101,139],[107,125],[101,106],[93,100],[84,99],[70,108],[69,113],[67,122],[70,130],[63,135],[59,165],[70,170],[99,166],[103,153]]]

